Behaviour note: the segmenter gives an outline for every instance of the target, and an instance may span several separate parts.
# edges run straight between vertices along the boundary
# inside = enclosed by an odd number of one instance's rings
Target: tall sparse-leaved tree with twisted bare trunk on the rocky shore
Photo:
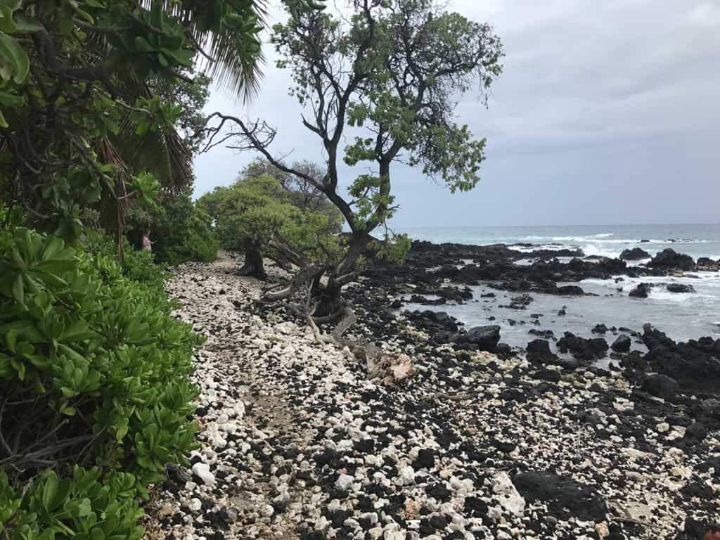
[[[402,158],[452,192],[480,180],[485,139],[476,140],[454,119],[455,99],[479,87],[482,102],[500,75],[500,39],[488,24],[445,12],[438,0],[355,0],[349,19],[287,1],[288,20],[274,27],[278,66],[292,72],[291,94],[302,105],[302,125],[318,139],[327,170],[321,178],[287,166],[271,153],[276,130],[261,120],[217,112],[209,119],[205,150],[217,144],[254,150],[286,174],[317,189],[342,213],[351,232],[333,266],[305,261],[288,287],[268,295],[287,298],[307,279],[315,287],[314,315],[348,310],[341,289],[356,276],[361,256],[384,231],[379,253],[402,258],[409,243],[387,229],[394,204],[391,165]],[[353,142],[343,148],[346,130]],[[369,166],[343,193],[340,167]]]

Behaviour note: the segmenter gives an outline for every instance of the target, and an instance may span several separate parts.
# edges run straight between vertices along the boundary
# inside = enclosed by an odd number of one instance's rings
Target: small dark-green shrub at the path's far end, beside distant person
[[[217,257],[219,242],[212,219],[189,196],[164,196],[150,207],[131,209],[125,230],[135,248],[140,248],[142,235],[149,230],[153,256],[160,263],[175,266]]]

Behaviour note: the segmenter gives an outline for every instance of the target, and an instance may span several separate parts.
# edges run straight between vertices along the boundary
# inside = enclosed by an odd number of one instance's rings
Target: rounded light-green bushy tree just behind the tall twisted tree
[[[337,212],[312,204],[295,186],[264,172],[268,170],[254,163],[233,186],[218,187],[198,201],[215,219],[222,247],[245,253],[240,272],[264,276],[263,257],[289,268],[299,258],[336,253]]]

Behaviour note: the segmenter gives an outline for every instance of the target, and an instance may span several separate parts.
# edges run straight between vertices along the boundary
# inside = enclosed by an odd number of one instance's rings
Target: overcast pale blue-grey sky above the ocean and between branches
[[[472,92],[456,107],[458,122],[487,138],[487,160],[462,194],[394,166],[396,228],[720,222],[720,0],[453,0],[449,9],[503,40],[487,109]],[[272,10],[270,22],[280,19]],[[278,130],[277,155],[320,163],[289,73],[270,45],[265,53],[257,96],[243,104],[213,89],[207,111],[263,118]],[[231,184],[254,157],[220,147],[198,156],[195,195]],[[344,168],[343,181],[355,174]]]

